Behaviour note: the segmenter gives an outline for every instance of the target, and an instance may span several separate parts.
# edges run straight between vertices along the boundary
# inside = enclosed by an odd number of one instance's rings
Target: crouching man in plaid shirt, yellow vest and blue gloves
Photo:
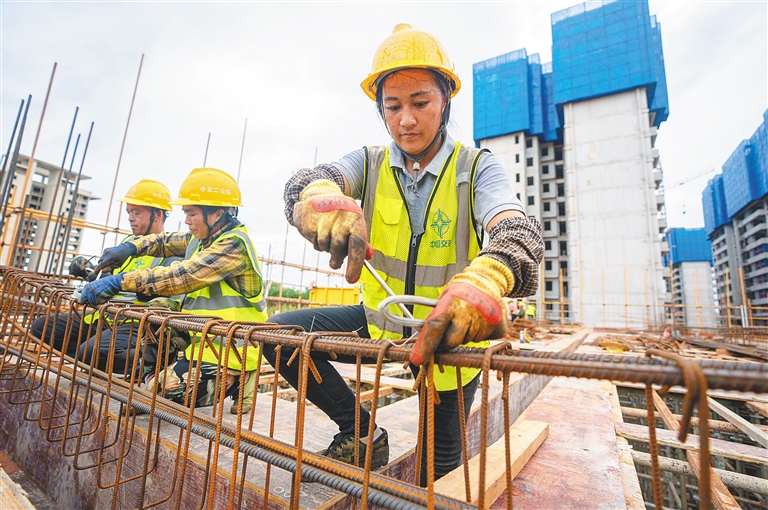
[[[230,321],[264,322],[267,319],[261,268],[248,230],[237,219],[242,205],[240,188],[226,172],[216,168],[196,168],[181,185],[179,198],[186,215],[189,233],[156,234],[142,237],[104,252],[96,270],[119,266],[131,256],[184,256],[184,261],[171,267],[118,274],[89,283],[83,288],[82,301],[90,305],[106,302],[121,290],[149,292],[160,296],[183,295],[181,302],[166,299],[169,308],[206,316],[219,316]],[[216,352],[203,350],[199,385],[194,392],[188,382],[194,378],[200,337],[196,335],[184,359],[157,374],[158,387],[166,398],[184,403],[187,395],[198,405],[212,405],[218,394],[213,387],[219,370]],[[214,339],[219,345],[222,339]],[[238,384],[244,384],[242,405],[235,400],[230,411],[246,413],[253,402],[258,374],[259,350],[249,347],[246,354],[246,381],[239,381],[241,363],[230,351],[226,377],[227,395],[236,399]],[[221,362],[224,361],[222,353]],[[238,384],[235,384],[235,383]],[[153,383],[154,384],[154,383]]]

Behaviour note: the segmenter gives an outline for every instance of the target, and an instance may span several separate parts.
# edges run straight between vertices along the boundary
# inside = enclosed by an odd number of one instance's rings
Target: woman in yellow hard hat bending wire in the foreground
[[[346,279],[363,284],[363,303],[292,311],[270,322],[313,332],[354,331],[381,340],[410,336],[410,328],[385,322],[379,314],[385,290],[367,271],[361,276],[363,262],[370,257],[396,294],[440,298],[432,311],[413,309],[416,318],[426,319],[411,356],[414,373],[438,347],[481,347],[488,345],[486,339],[504,335],[501,298],[536,290],[544,251],[541,226],[525,216],[506,171],[492,154],[457,143],[448,134],[451,98],[460,86],[453,62],[432,35],[401,24],[384,40],[362,88],[376,102],[392,143],[299,170],[284,194],[289,223],[316,250],[330,252],[332,268],[347,259]],[[362,208],[356,200],[362,200]],[[481,250],[484,231],[490,242]],[[274,365],[274,347],[265,346],[264,351]],[[282,353],[283,359],[290,356],[285,348]],[[333,442],[320,453],[353,463],[355,395],[328,362],[329,354],[315,352],[312,359],[322,382],[307,378],[307,398],[339,426]],[[337,354],[334,359],[355,362],[354,356]],[[294,387],[296,366],[280,365],[280,373]],[[431,374],[440,395],[434,420],[437,477],[461,463],[458,413],[468,416],[479,381],[479,370],[461,370],[460,411],[456,369],[445,368],[444,373]],[[361,463],[369,421],[361,407]],[[388,441],[386,431],[376,426],[374,468],[388,462]],[[421,462],[426,465],[426,454]],[[426,468],[421,473],[425,485]]]

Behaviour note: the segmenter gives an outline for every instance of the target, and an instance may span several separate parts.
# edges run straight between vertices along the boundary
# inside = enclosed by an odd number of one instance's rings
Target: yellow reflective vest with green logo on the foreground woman
[[[487,149],[474,149],[456,143],[446,160],[427,202],[424,233],[415,235],[398,170],[389,162],[389,147],[366,147],[362,207],[370,228],[370,243],[375,252],[371,264],[397,295],[415,295],[437,299],[452,276],[467,267],[480,252],[482,229],[474,215],[474,180],[480,156]],[[374,339],[398,339],[410,335],[379,313],[379,303],[386,291],[367,271],[360,276],[368,332]],[[399,308],[394,313],[402,315]],[[412,314],[424,319],[431,307],[415,305]],[[472,342],[466,347],[487,347],[488,341]],[[456,368],[434,370],[438,391],[457,388]],[[462,368],[462,384],[468,384],[480,372]]]

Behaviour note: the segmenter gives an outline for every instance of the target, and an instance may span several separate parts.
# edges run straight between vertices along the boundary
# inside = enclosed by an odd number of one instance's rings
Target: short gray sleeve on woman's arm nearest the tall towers
[[[475,175],[475,218],[487,230],[488,222],[502,211],[525,213],[525,208],[498,158],[484,154]]]

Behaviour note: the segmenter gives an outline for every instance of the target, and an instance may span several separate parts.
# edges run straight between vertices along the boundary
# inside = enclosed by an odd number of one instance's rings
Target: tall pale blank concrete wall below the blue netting
[[[568,264],[574,320],[640,328],[660,321],[661,241],[644,89],[563,107]]]

